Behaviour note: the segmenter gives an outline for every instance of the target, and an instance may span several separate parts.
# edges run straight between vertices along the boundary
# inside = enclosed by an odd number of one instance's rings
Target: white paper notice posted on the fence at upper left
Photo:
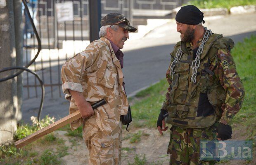
[[[57,13],[57,21],[73,21],[73,3],[72,2],[63,2],[56,3],[56,13]]]

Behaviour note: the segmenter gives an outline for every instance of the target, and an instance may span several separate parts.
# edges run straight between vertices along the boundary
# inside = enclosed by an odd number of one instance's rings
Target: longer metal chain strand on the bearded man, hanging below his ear
[[[204,33],[204,37],[203,40],[201,41],[201,44],[199,46],[199,48],[197,49],[197,56],[196,58],[193,60],[191,68],[192,68],[192,77],[191,77],[191,81],[193,81],[193,83],[197,82],[197,70],[199,68],[200,65],[200,58],[201,58],[201,54],[204,50],[204,45],[206,44],[207,40],[209,39],[211,33],[211,30],[207,30],[206,27],[204,27],[205,29],[205,33]]]

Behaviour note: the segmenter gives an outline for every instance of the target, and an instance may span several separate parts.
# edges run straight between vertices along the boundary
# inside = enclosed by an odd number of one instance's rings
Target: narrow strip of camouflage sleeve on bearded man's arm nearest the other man
[[[169,86],[168,86],[167,92],[165,94],[166,98],[165,98],[164,103],[163,103],[162,108],[161,108],[161,109],[165,109],[165,110],[167,110],[166,107],[168,105],[170,105],[169,98],[170,98],[171,82],[172,82],[172,77],[171,77],[171,63],[172,62],[173,62],[173,52],[171,52],[171,62],[170,62],[169,66],[168,66],[168,69],[166,71],[166,80],[167,80]]]

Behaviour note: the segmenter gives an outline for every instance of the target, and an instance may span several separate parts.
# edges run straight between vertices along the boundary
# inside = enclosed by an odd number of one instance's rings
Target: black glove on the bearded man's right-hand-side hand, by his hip
[[[232,128],[230,125],[225,125],[223,123],[219,123],[218,125],[218,135],[217,137],[221,140],[227,140],[230,139],[232,136]]]

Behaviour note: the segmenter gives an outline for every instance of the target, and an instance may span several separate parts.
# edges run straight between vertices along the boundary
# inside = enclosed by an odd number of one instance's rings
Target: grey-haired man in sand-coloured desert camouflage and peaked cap
[[[71,100],[69,113],[80,111],[83,119],[71,123],[75,130],[83,124],[83,139],[89,150],[88,165],[121,165],[122,123],[128,112],[123,83],[123,48],[128,31],[137,29],[119,13],[101,19],[100,40],[64,63],[62,89]],[[105,98],[107,104],[92,109]]]

